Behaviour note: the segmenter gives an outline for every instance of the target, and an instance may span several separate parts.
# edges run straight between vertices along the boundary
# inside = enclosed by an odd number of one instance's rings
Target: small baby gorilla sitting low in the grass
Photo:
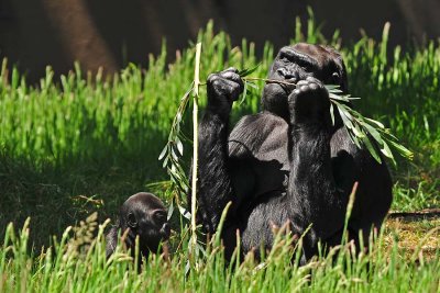
[[[124,244],[134,257],[135,240],[139,236],[140,261],[147,258],[150,251],[157,252],[161,240],[169,237],[170,228],[163,202],[152,193],[140,192],[130,196],[121,206],[119,218],[106,236],[107,257],[110,257],[118,244],[118,234],[123,235]]]

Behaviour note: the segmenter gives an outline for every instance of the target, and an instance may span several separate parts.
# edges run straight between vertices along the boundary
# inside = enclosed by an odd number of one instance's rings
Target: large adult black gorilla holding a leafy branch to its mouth
[[[380,227],[392,202],[392,180],[385,164],[359,149],[336,113],[330,116],[323,84],[346,92],[346,72],[332,48],[297,44],[283,47],[268,79],[297,83],[296,89],[266,83],[263,111],[241,119],[229,134],[229,114],[243,83],[233,68],[210,75],[208,105],[199,126],[198,221],[208,233],[232,201],[223,230],[227,251],[241,233],[243,251],[273,244],[273,225],[290,222],[305,237],[305,259],[317,243],[341,240],[350,192],[359,182],[349,223],[350,238],[362,229],[367,239]]]

